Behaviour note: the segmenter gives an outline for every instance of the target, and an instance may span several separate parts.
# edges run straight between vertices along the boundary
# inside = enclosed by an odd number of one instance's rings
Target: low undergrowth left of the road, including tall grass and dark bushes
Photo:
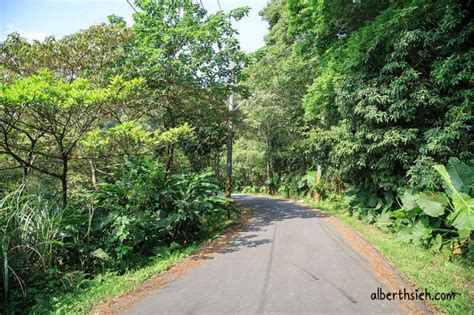
[[[104,271],[125,272],[214,232],[237,211],[213,173],[169,175],[156,161],[126,159],[68,207],[24,188],[0,203],[3,294],[9,309],[48,309],[49,296]],[[33,302],[35,301],[35,302]]]

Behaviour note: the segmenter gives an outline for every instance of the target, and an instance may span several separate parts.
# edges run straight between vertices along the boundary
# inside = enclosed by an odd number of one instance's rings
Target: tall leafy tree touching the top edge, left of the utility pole
[[[125,71],[146,80],[148,113],[159,128],[174,128],[203,106],[222,112],[245,63],[232,21],[245,16],[248,9],[209,15],[190,0],[135,3],[140,11],[134,15],[135,37],[128,47]],[[173,143],[168,145],[167,156],[169,170]]]

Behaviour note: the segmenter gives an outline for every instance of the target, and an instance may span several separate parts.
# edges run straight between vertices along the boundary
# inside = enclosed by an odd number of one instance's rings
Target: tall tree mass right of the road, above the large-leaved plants
[[[433,164],[472,159],[468,3],[275,0],[263,15],[245,138],[267,169],[321,165],[328,187],[383,194],[435,189]]]

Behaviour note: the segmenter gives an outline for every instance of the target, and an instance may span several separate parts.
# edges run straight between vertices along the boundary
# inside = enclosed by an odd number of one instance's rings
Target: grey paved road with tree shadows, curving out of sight
[[[124,314],[402,313],[370,299],[384,285],[318,214],[279,199],[234,199],[253,211],[243,231]]]

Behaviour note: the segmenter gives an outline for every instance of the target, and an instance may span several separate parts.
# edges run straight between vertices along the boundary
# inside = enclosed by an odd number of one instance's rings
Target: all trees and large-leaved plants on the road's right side
[[[275,0],[262,15],[239,187],[346,194],[353,215],[400,241],[472,257],[469,1]]]

